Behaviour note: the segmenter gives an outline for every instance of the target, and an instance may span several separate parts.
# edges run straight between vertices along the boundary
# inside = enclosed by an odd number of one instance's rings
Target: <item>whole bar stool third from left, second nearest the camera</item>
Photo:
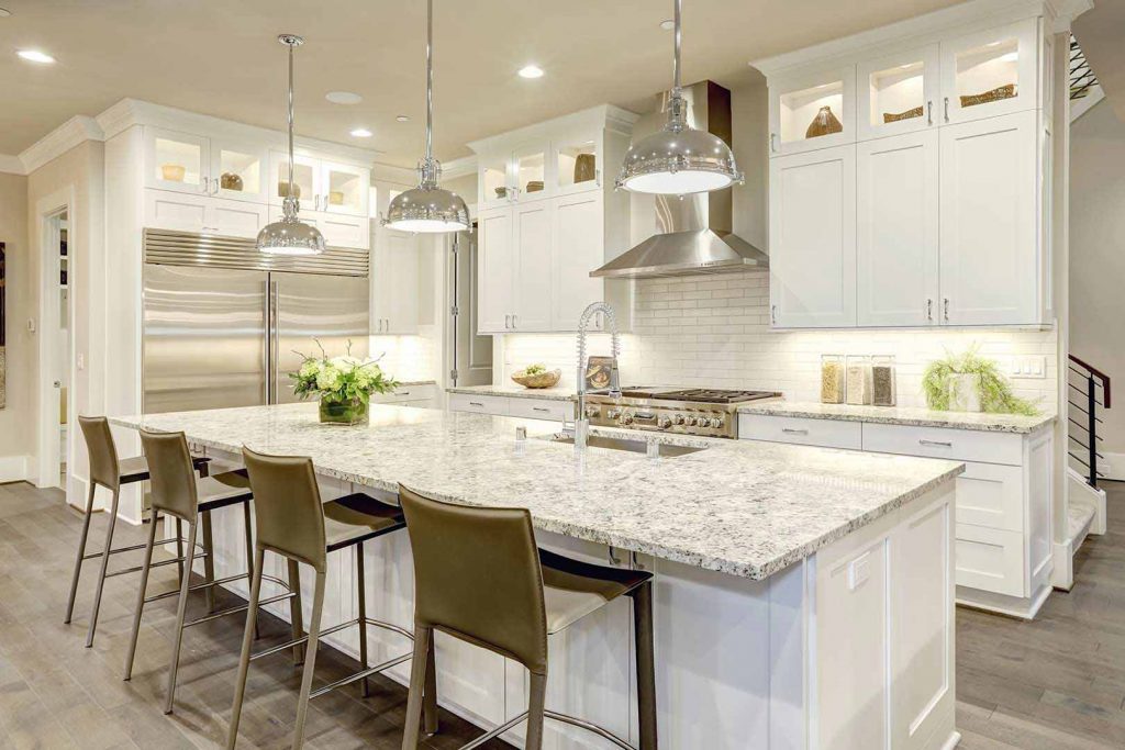
[[[368,695],[367,678],[371,675],[403,663],[411,658],[407,652],[389,659],[378,666],[368,667],[367,626],[376,625],[394,633],[412,639],[412,633],[405,627],[372,620],[367,616],[367,595],[363,580],[363,543],[367,540],[384,536],[405,527],[402,510],[382,503],[370,495],[356,493],[327,503],[321,499],[321,490],[316,484],[313,461],[302,457],[280,457],[255,453],[243,448],[243,459],[250,475],[251,489],[254,493],[254,518],[258,535],[254,542],[254,576],[250,589],[250,611],[246,615],[246,630],[242,640],[242,656],[238,659],[238,677],[235,684],[234,706],[231,710],[231,728],[227,733],[226,747],[231,750],[238,738],[238,721],[242,715],[242,702],[246,690],[246,674],[250,662],[290,645],[306,643],[305,668],[302,674],[300,695],[297,701],[297,721],[294,726],[292,747],[302,748],[305,742],[305,720],[308,715],[310,698],[324,695],[338,687],[362,680],[362,693]],[[328,553],[349,546],[356,549],[356,581],[358,590],[359,616],[332,627],[321,629],[321,615],[324,609],[324,584],[327,571]],[[266,552],[273,552],[286,558],[290,564],[298,562],[312,566],[316,572],[313,594],[313,611],[308,624],[308,635],[295,638],[292,641],[276,645],[255,654],[251,654],[253,627],[258,616],[262,585],[262,564]],[[352,625],[359,625],[360,671],[313,690],[313,672],[316,666],[316,647],[321,636],[342,631]],[[435,672],[432,669],[433,652],[422,651],[423,681],[435,693],[432,680]],[[436,725],[436,704],[428,705],[428,721]]]

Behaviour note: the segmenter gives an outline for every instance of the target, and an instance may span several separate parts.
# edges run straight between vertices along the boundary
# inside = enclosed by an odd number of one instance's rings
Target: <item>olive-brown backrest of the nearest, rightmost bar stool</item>
[[[547,674],[539,549],[524,508],[442,503],[399,486],[414,553],[414,622]]]

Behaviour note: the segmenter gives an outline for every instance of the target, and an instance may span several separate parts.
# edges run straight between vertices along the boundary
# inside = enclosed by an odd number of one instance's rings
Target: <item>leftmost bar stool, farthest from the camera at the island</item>
[[[122,552],[132,552],[144,549],[144,544],[132,544],[129,546],[114,548],[114,526],[117,523],[117,504],[120,498],[123,485],[145,481],[148,479],[148,463],[143,457],[118,460],[117,446],[114,444],[114,435],[109,430],[109,419],[106,417],[83,417],[78,418],[82,426],[82,435],[86,437],[86,448],[90,457],[90,493],[87,496],[86,517],[82,519],[82,533],[79,536],[78,555],[74,559],[74,572],[71,576],[71,590],[66,599],[66,617],[64,624],[70,624],[74,615],[74,598],[78,595],[78,581],[82,575],[82,566],[87,560],[101,558],[101,569],[98,573],[98,586],[93,594],[93,608],[90,612],[90,624],[86,634],[86,648],[93,645],[93,634],[98,629],[98,611],[101,608],[101,591],[105,588],[106,579],[125,573],[138,572],[141,567],[126,568],[108,572],[109,558]],[[194,457],[192,468],[205,475],[208,459],[206,457]],[[93,515],[93,495],[98,486],[105,487],[114,495],[109,505],[109,526],[106,528],[106,542],[101,552],[86,553],[87,537],[90,534],[90,516]],[[179,530],[177,530],[179,531]],[[165,539],[159,544],[176,543],[181,548],[182,540],[179,534],[174,539]],[[208,554],[209,559],[209,554]],[[183,553],[178,549],[177,557],[156,564],[179,564],[180,575],[183,575]]]

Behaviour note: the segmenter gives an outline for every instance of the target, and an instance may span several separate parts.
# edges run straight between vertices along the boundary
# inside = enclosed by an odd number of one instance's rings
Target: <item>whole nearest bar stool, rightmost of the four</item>
[[[633,600],[640,750],[656,750],[652,575],[593,566],[537,549],[524,508],[452,505],[399,486],[414,554],[414,663],[403,750],[418,742],[425,662],[439,630],[522,663],[531,672],[529,710],[464,746],[479,747],[528,720],[526,750],[540,750],[543,719],[588,730],[619,748],[628,742],[591,722],[544,707],[547,636],[619,596]],[[429,699],[436,701],[436,696]],[[431,729],[436,726],[428,728]]]

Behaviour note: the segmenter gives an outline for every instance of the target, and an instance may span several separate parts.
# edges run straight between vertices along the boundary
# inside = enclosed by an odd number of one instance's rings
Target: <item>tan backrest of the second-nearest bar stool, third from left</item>
[[[324,508],[313,460],[242,449],[254,494],[258,544],[325,572]]]

